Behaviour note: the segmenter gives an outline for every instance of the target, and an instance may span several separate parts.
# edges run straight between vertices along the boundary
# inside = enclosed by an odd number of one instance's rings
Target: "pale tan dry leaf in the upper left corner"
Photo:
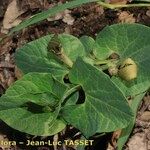
[[[7,33],[9,29],[17,26],[22,20],[18,17],[23,14],[24,11],[20,10],[17,6],[16,0],[13,0],[7,7],[7,10],[3,19],[2,33]]]

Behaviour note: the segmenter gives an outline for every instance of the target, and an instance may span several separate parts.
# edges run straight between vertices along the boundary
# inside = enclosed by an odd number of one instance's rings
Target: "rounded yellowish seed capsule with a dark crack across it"
[[[136,63],[131,58],[127,58],[120,65],[118,75],[119,77],[121,77],[123,80],[126,81],[135,79],[137,77]]]

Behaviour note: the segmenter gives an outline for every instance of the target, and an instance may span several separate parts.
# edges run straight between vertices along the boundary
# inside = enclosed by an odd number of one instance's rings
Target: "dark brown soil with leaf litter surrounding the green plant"
[[[4,19],[4,14],[11,1],[1,0],[0,1],[0,29],[2,29],[2,22]],[[64,0],[18,0],[18,7],[24,10],[21,15],[21,19],[26,19],[29,16],[45,10],[57,3],[63,3]],[[65,15],[65,14],[63,14]],[[27,42],[33,41],[49,33],[69,33],[80,37],[82,35],[89,35],[95,38],[96,34],[100,32],[104,27],[116,24],[116,23],[140,23],[150,26],[150,9],[149,8],[122,8],[118,10],[104,9],[103,7],[90,3],[82,7],[78,7],[69,11],[70,19],[64,21],[64,18],[59,19],[51,18],[51,21],[44,20],[36,25],[28,27],[18,34],[5,39],[0,47],[0,95],[4,94],[6,89],[18,78],[20,78],[20,72],[16,70],[14,63],[14,53],[17,48],[21,47]],[[73,22],[73,23],[71,23]],[[3,35],[3,33],[0,33]],[[148,143],[150,149],[150,123],[149,120],[143,120],[146,116],[146,112],[150,111],[150,96],[149,93],[146,94],[138,110],[137,119],[133,132],[129,138],[129,141],[124,146],[126,150],[148,150]],[[63,135],[58,135],[58,138],[63,139],[73,139],[78,138],[75,136],[79,131],[70,126],[67,127]],[[53,137],[33,137],[16,131],[8,127],[5,123],[0,123],[0,139],[9,139],[10,141],[26,141],[27,139],[40,140],[53,140]],[[86,147],[86,150],[107,150],[115,149],[115,147],[110,146],[112,139],[112,133],[106,134],[99,138],[95,138],[94,146]],[[141,145],[147,145],[147,147],[142,147]],[[137,147],[136,147],[136,146]],[[141,147],[140,147],[141,146]],[[144,149],[145,148],[145,149]],[[22,146],[12,146],[12,147],[1,147],[1,149],[8,150],[53,150],[54,147],[28,147]],[[58,147],[58,150],[65,150],[63,147]],[[56,149],[54,149],[56,150]],[[66,147],[66,150],[75,150],[73,147]]]

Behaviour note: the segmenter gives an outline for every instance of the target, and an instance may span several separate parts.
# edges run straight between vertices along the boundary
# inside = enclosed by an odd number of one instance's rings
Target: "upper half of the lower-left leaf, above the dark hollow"
[[[29,73],[7,89],[1,102],[11,102],[17,106],[27,102],[48,105],[52,98],[60,99],[65,90],[66,86],[53,79],[49,73]]]

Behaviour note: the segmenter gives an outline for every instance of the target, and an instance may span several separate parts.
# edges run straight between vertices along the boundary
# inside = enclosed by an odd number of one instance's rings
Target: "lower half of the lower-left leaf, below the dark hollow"
[[[16,130],[37,136],[54,135],[66,126],[54,113],[33,114],[23,108],[0,111],[0,118]]]

